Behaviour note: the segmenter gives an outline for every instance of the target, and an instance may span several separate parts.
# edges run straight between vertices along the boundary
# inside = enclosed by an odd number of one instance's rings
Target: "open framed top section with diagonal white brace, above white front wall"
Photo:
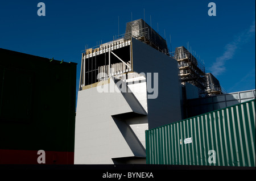
[[[79,89],[93,87],[95,83],[113,75],[131,71],[130,45],[131,40],[117,39],[85,49],[82,53]]]

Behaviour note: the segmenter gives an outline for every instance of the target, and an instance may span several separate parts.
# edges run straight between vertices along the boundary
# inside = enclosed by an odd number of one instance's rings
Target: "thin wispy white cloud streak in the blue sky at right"
[[[222,56],[216,58],[216,61],[210,68],[211,73],[214,76],[222,74],[226,70],[226,61],[232,59],[236,50],[240,48],[241,45],[247,43],[253,35],[255,35],[255,20],[251,24],[250,28],[247,28],[247,30],[240,33],[240,35],[236,36],[231,43],[225,46],[225,52]]]

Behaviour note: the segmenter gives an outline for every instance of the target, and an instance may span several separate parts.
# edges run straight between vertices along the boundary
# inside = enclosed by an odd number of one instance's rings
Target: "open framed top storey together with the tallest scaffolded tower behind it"
[[[113,75],[125,74],[133,70],[131,37],[170,56],[166,40],[144,20],[128,22],[125,34],[118,35],[118,39],[113,37],[113,41],[105,44],[97,43],[96,47],[86,47],[82,52],[80,90],[87,89],[87,86],[92,87],[97,82],[105,81]]]

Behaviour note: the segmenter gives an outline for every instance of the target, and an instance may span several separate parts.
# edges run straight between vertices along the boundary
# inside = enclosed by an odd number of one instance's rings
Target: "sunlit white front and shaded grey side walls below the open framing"
[[[129,46],[129,73],[78,92],[75,164],[146,163],[144,132],[181,120],[177,61],[136,39]],[[157,87],[149,93],[154,73]]]

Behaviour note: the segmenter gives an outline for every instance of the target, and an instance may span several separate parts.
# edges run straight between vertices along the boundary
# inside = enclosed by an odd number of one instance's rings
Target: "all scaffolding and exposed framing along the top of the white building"
[[[81,62],[80,90],[113,75],[133,70],[131,37],[176,59],[181,83],[185,85],[188,82],[196,86],[200,96],[225,93],[220,83],[216,83],[217,79],[212,74],[205,73],[204,63],[201,60],[197,60],[192,52],[184,47],[177,47],[175,52],[170,52],[166,40],[142,19],[126,23],[125,34],[118,35],[118,39],[113,38],[113,41],[97,44],[96,47],[84,50]]]

